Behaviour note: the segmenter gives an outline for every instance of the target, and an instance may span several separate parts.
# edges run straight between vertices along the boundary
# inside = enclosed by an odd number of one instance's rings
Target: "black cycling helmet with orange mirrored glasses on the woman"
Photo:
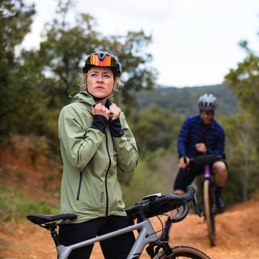
[[[92,53],[86,58],[86,64],[83,67],[83,73],[86,74],[92,66],[109,67],[116,76],[121,76],[120,64],[114,55],[107,51],[98,51]]]

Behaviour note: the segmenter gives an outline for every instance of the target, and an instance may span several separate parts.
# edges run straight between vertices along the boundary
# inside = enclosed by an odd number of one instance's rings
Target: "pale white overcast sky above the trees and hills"
[[[36,4],[32,33],[23,46],[39,48],[43,24],[55,14],[56,0]],[[221,84],[230,68],[246,57],[247,40],[259,54],[259,0],[75,0],[73,15],[92,15],[103,35],[151,34],[152,66],[164,86]],[[90,53],[89,53],[90,54]]]

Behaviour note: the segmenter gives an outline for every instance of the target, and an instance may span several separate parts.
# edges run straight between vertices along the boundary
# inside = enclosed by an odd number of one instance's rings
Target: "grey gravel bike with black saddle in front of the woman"
[[[193,201],[196,212],[199,213],[197,198],[195,195],[195,189],[189,185],[185,195],[178,194],[166,194],[161,193],[148,195],[142,198],[144,202],[137,202],[134,207],[126,209],[130,225],[123,229],[119,229],[101,236],[97,236],[70,246],[63,246],[59,242],[56,228],[61,224],[64,224],[68,219],[75,219],[77,216],[73,214],[63,215],[39,215],[31,214],[27,218],[35,224],[42,226],[50,231],[58,253],[58,259],[66,259],[72,250],[87,246],[110,237],[118,236],[133,230],[137,230],[138,235],[129,252],[127,259],[138,259],[146,247],[146,252],[153,259],[177,259],[177,258],[189,258],[189,259],[210,259],[205,253],[197,248],[187,245],[175,245],[170,247],[167,241],[160,241],[157,232],[163,230],[163,223],[161,222],[162,229],[155,231],[150,217],[162,215],[173,209],[182,207],[182,212],[179,216],[168,217],[168,221],[175,223],[183,220],[189,212],[189,202]]]

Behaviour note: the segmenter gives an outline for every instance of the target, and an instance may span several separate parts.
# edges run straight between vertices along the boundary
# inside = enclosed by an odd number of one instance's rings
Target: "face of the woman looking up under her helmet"
[[[87,91],[94,97],[109,96],[114,88],[113,72],[108,67],[93,66],[86,78]]]

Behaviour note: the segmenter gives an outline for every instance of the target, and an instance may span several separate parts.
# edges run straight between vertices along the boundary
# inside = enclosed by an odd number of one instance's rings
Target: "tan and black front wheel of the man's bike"
[[[204,196],[204,215],[208,226],[209,239],[211,246],[216,244],[216,230],[213,206],[213,189],[212,183],[209,179],[206,179],[203,184],[203,196]]]

